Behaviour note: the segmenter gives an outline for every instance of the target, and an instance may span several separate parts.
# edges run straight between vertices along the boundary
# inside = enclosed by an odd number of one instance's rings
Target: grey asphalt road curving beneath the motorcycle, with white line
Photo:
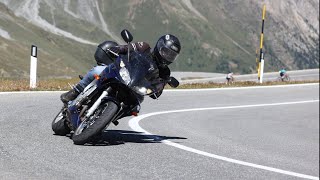
[[[319,179],[319,84],[168,90],[95,146],[53,135],[60,94],[0,93],[0,179]]]

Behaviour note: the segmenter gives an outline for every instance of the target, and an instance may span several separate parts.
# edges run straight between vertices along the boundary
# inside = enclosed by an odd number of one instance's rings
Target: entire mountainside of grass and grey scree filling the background
[[[264,3],[266,71],[318,68],[317,0],[0,0],[0,76],[28,75],[31,44],[40,77],[83,74],[96,44],[123,43],[124,28],[152,46],[164,33],[178,36],[173,70],[252,73]]]

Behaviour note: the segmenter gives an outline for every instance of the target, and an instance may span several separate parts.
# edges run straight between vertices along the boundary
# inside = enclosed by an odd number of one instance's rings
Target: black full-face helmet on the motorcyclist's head
[[[159,64],[171,64],[179,55],[181,50],[180,41],[171,34],[163,35],[159,38],[153,53]]]

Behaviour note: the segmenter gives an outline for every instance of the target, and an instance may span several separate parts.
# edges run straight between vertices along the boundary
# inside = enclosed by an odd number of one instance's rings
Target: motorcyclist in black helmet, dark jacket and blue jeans
[[[150,54],[158,66],[159,79],[163,81],[169,79],[171,71],[168,65],[171,64],[179,55],[181,45],[179,39],[171,34],[161,36],[157,41],[153,51],[146,42],[118,45],[113,41],[105,41],[98,46],[95,52],[95,60],[97,61],[98,66],[95,66],[93,69],[91,69],[84,76],[84,78],[76,86],[74,86],[73,89],[63,93],[60,97],[62,102],[67,103],[68,101],[74,100],[94,79],[94,74],[100,74],[108,64],[114,61],[115,56],[107,51],[107,49],[110,49],[117,54],[126,54],[128,50],[130,52],[138,51],[140,53]],[[160,90],[150,97],[153,99],[158,98],[162,94],[165,84],[166,83],[161,84]]]

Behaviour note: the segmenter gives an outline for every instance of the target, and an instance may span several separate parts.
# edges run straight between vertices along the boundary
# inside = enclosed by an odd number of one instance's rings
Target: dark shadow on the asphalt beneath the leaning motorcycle
[[[123,130],[107,130],[100,136],[97,136],[91,143],[86,145],[91,146],[111,146],[125,143],[160,143],[167,139],[187,139],[184,137],[171,137],[160,135],[146,135],[137,131]]]

